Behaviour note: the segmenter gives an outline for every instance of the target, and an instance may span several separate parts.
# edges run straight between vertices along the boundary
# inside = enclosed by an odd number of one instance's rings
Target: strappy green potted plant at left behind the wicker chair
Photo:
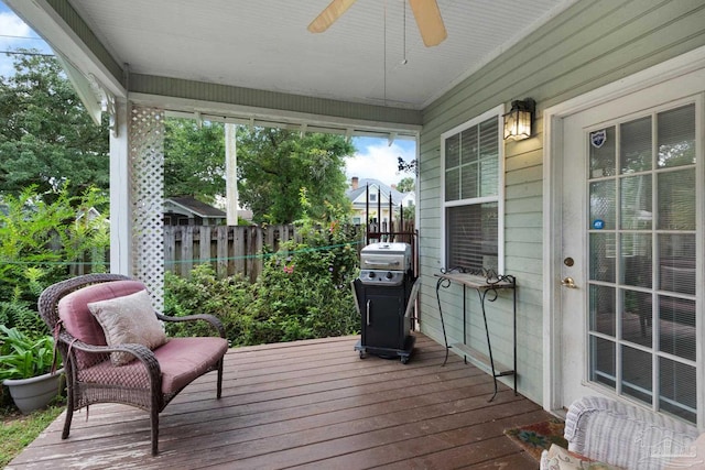
[[[0,325],[0,380],[30,379],[50,372],[54,362],[54,339],[32,337],[18,328]]]

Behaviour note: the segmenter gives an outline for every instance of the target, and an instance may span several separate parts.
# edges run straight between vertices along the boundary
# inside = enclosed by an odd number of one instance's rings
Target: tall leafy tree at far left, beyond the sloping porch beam
[[[53,57],[15,55],[0,77],[0,193],[34,186],[45,200],[109,185],[107,125],[95,125]],[[70,176],[70,181],[67,178]]]

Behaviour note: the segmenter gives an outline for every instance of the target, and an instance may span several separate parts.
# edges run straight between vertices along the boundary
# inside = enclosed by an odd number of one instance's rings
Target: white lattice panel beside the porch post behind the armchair
[[[154,308],[164,305],[164,110],[130,109],[133,273],[150,293]]]

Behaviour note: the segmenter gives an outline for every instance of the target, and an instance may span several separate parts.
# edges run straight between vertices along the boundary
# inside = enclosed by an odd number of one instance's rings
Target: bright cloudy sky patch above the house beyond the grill
[[[375,178],[388,185],[413,176],[411,173],[398,171],[398,157],[411,162],[416,157],[416,144],[413,141],[395,141],[389,145],[387,139],[354,139],[357,152],[347,159],[345,174],[348,181],[352,176],[360,179]]]

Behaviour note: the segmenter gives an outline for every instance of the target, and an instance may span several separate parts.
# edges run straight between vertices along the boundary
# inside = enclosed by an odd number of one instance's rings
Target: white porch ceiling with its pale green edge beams
[[[411,138],[422,109],[576,2],[437,0],[447,39],[425,47],[405,1],[357,0],[319,34],[306,26],[329,0],[4,1],[119,98],[250,124],[307,119],[308,131],[345,103],[344,132]],[[227,116],[204,105],[221,99],[237,105]]]

